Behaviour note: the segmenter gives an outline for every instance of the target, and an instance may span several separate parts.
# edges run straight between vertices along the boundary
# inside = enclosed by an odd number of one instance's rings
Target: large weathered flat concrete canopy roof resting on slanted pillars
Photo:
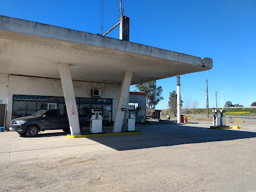
[[[0,73],[60,78],[69,63],[73,80],[131,84],[210,70],[210,58],[117,40],[23,19],[0,16]]]

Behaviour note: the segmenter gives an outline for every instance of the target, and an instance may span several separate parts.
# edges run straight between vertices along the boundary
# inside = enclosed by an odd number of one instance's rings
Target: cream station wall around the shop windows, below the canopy
[[[3,98],[2,100],[8,99],[8,110],[7,110],[7,116],[6,116],[7,124],[9,124],[9,122],[11,121],[11,115],[12,115],[12,109],[13,109],[13,95],[40,95],[40,96],[63,97],[61,81],[58,79],[9,75],[9,82],[8,82],[8,75],[3,75],[2,78],[6,80],[6,77],[7,77],[8,87],[5,86],[6,88],[4,88],[4,86],[2,85],[0,86],[0,90],[3,90],[3,92],[1,92],[1,95],[0,95],[0,100],[1,98]],[[73,81],[73,87],[74,87],[75,97],[87,97],[87,98],[91,97],[91,89],[93,88],[101,89],[102,90],[101,98],[113,99],[112,120],[114,120],[115,110],[117,108],[117,102],[118,102],[118,97],[120,92],[120,85]]]

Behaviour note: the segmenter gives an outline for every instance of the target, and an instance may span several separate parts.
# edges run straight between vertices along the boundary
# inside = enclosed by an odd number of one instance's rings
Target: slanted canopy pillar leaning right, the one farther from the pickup
[[[113,132],[122,131],[122,122],[124,120],[124,114],[125,114],[127,99],[129,97],[131,81],[132,81],[132,72],[125,72],[124,77],[122,79],[122,85],[120,88],[117,110],[115,112]],[[122,110],[122,108],[124,110]]]

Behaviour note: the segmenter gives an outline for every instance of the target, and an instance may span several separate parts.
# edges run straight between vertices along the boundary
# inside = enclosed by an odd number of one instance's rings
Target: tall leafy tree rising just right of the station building
[[[150,108],[155,109],[155,107],[159,103],[159,101],[164,99],[161,96],[161,94],[163,92],[163,88],[161,86],[156,87],[156,80],[154,80],[152,82],[137,84],[135,87],[140,92],[146,93],[148,109],[150,109]]]

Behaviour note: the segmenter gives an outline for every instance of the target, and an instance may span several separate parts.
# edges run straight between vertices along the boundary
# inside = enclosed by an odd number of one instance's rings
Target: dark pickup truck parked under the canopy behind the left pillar
[[[82,126],[89,125],[90,117],[90,115],[79,117],[80,129]],[[40,131],[53,129],[70,131],[67,115],[60,115],[57,109],[39,110],[31,116],[13,119],[9,124],[9,130],[14,130],[19,135],[27,135],[28,137],[35,137]]]

